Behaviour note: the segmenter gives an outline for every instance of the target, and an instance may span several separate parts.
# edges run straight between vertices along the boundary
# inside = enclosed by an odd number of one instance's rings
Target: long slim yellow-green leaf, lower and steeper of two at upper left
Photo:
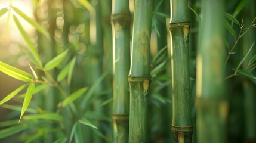
[[[38,55],[38,52],[36,51],[35,46],[33,45],[32,41],[29,38],[29,35],[27,35],[26,31],[21,26],[20,21],[18,21],[18,18],[13,15],[14,22],[16,23],[18,30],[20,30],[21,35],[23,36],[24,40],[26,41],[27,45],[29,45],[30,51],[33,54],[33,57],[35,57],[36,60],[36,66],[42,67],[42,62],[40,60],[40,57]]]

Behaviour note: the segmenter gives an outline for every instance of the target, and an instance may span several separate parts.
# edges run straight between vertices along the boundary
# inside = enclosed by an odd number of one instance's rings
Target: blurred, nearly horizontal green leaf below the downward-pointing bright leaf
[[[60,116],[57,113],[39,113],[39,114],[25,115],[23,116],[23,119],[26,119],[26,120],[45,119],[45,120],[55,120],[58,122],[63,122],[63,116]]]

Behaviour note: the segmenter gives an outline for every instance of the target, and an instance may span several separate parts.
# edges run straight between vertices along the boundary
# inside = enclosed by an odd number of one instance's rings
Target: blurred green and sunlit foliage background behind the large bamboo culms
[[[133,4],[130,0],[131,15]],[[227,138],[229,142],[256,142],[256,50],[252,44],[256,39],[256,4],[254,0],[226,1],[225,4],[225,45],[229,57],[226,62]],[[172,142],[169,5],[168,0],[153,1],[149,142]],[[15,7],[27,15],[27,19]],[[190,0],[189,7],[191,116],[193,142],[196,142],[194,101],[201,2]],[[26,90],[1,105],[0,142],[112,142],[111,8],[112,2],[106,0],[0,1],[0,60],[33,74],[30,63],[44,82],[36,83],[32,101],[19,124]],[[17,17],[29,40],[24,38],[12,15]],[[57,55],[64,55],[63,60],[53,70],[44,72],[36,68],[39,65],[36,65],[35,54],[30,52],[31,46],[36,47],[43,65]],[[1,100],[24,84],[2,72],[0,79]],[[65,97],[75,92],[80,94],[63,107]]]

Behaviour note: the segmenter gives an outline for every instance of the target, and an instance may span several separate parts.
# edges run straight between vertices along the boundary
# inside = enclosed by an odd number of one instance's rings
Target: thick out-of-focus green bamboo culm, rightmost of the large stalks
[[[223,1],[202,1],[197,56],[196,111],[198,142],[226,142],[227,100],[224,83]]]

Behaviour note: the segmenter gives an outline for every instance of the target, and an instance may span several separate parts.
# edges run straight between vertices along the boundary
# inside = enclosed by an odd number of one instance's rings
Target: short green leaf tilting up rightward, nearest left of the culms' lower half
[[[79,98],[82,94],[87,91],[87,87],[78,89],[77,91],[73,92],[71,95],[69,95],[65,100],[62,102],[62,106],[66,107],[66,105],[69,105],[71,102],[75,101],[77,98]]]

